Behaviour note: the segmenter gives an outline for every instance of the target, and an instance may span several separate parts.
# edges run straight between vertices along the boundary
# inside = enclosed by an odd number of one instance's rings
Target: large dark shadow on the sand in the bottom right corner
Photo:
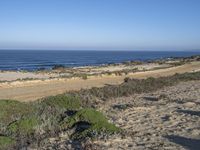
[[[190,139],[177,135],[165,136],[169,141],[182,145],[189,150],[200,150],[200,139]]]

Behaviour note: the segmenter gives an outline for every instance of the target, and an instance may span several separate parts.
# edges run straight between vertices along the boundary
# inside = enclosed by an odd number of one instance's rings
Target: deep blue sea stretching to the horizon
[[[200,51],[58,51],[0,50],[0,70],[51,69],[56,64],[67,67],[148,61],[169,57],[200,55]]]

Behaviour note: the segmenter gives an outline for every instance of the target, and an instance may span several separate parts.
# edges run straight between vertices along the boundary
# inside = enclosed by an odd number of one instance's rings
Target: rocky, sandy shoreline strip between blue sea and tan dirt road
[[[55,78],[73,78],[94,75],[128,74],[132,72],[149,71],[183,65],[192,61],[199,61],[200,55],[190,57],[171,57],[151,61],[126,61],[121,63],[108,63],[98,66],[65,67],[55,65],[50,70],[0,70],[0,83],[15,81],[49,80]]]

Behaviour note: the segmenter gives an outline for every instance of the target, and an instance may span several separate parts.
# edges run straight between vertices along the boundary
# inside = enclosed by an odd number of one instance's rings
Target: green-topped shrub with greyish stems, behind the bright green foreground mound
[[[40,127],[43,131],[52,134],[60,130],[59,122],[68,110],[77,111],[81,108],[80,99],[77,96],[61,94],[45,98],[35,104],[35,116],[42,122]]]

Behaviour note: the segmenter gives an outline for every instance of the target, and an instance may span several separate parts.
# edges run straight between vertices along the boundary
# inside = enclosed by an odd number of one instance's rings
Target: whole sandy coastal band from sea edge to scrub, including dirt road
[[[66,91],[118,85],[127,78],[157,78],[199,71],[200,55],[73,68],[58,65],[40,71],[0,71],[0,99],[32,101]]]

